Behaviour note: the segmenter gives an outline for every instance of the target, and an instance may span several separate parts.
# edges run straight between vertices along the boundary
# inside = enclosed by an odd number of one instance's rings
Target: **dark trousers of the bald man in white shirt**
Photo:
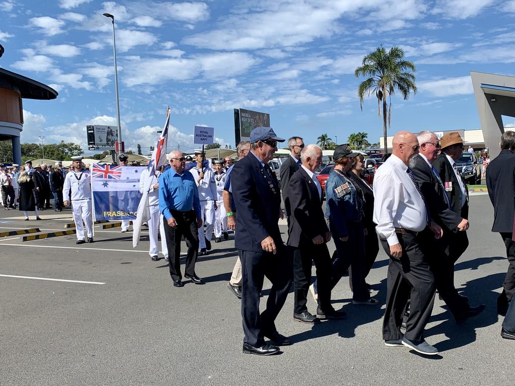
[[[408,299],[409,317],[404,336],[411,341],[424,339],[424,328],[435,300],[435,279],[429,268],[428,258],[419,247],[418,236],[397,234],[402,246],[400,259],[390,255],[386,239],[380,239],[383,249],[390,257],[388,264],[386,310],[383,320],[383,339],[401,338],[400,327]]]

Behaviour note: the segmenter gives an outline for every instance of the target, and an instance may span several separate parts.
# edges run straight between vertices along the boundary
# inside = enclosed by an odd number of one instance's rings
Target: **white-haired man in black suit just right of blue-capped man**
[[[331,305],[331,256],[327,242],[331,233],[322,210],[322,187],[315,171],[322,163],[322,149],[307,145],[301,153],[302,165],[289,181],[291,219],[288,245],[293,249],[295,306],[293,318],[302,323],[318,323],[320,319],[337,319],[345,312]],[[311,282],[311,267],[316,266],[318,283],[317,317],[306,307]]]

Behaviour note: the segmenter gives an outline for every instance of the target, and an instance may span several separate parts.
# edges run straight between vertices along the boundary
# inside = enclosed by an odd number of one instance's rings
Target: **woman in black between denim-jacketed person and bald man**
[[[372,265],[374,264],[375,258],[377,257],[377,253],[379,253],[379,240],[377,239],[377,234],[375,233],[376,224],[372,220],[374,212],[374,192],[372,187],[362,177],[363,172],[365,171],[364,160],[365,159],[361,154],[355,157],[353,159],[354,162],[352,164],[351,171],[347,173],[347,176],[356,186],[361,189],[365,199],[363,204],[363,209],[365,212],[365,217],[363,218],[363,227],[365,230],[365,277],[367,277],[370,269],[372,268]],[[352,273],[349,272],[349,275],[352,275]],[[352,289],[352,282],[350,282],[350,285]]]

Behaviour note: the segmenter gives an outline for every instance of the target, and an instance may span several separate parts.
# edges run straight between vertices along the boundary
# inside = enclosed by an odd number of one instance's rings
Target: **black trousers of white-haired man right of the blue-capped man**
[[[327,244],[315,245],[302,240],[300,248],[290,247],[293,252],[293,278],[295,288],[294,312],[307,311],[307,292],[311,284],[311,267],[315,262],[317,275],[318,306],[323,311],[331,306],[331,256]]]

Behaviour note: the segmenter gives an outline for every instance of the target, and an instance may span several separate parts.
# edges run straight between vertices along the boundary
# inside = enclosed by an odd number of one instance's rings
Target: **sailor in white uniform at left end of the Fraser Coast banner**
[[[91,215],[91,174],[88,169],[82,169],[82,157],[72,157],[74,170],[66,174],[63,187],[64,206],[70,205],[68,197],[72,191],[72,210],[75,229],[77,230],[77,244],[83,244],[84,225],[88,230],[88,242],[93,242],[93,218]]]

